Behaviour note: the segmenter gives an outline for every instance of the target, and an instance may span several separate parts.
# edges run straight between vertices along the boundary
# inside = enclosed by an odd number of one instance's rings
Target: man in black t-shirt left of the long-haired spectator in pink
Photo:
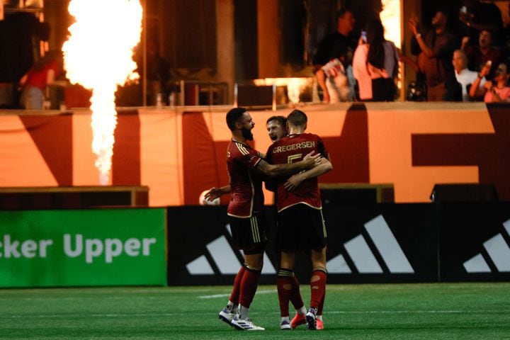
[[[353,101],[355,97],[353,81],[349,81],[352,53],[356,48],[356,42],[349,34],[355,20],[353,13],[346,8],[336,13],[336,20],[337,31],[322,39],[313,59],[314,74],[325,103]]]

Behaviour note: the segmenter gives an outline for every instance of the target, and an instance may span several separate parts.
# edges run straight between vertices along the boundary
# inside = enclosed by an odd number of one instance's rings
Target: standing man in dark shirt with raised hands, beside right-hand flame
[[[426,77],[428,101],[455,101],[462,96],[451,63],[458,44],[455,36],[446,30],[447,21],[447,14],[437,11],[432,18],[433,29],[422,35],[418,18],[413,16],[409,20],[413,40],[421,49],[419,64]]]

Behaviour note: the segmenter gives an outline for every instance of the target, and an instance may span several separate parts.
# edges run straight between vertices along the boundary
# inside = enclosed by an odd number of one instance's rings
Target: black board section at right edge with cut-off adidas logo
[[[510,203],[445,203],[438,221],[438,280],[510,280]]]

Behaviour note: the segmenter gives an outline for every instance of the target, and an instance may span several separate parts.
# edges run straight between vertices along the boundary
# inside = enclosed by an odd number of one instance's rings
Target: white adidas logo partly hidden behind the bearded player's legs
[[[230,225],[225,225],[227,228],[227,232],[232,236],[232,232],[230,231]],[[242,255],[242,251],[234,251],[227,241],[227,237],[221,236],[215,239],[214,241],[207,244],[206,248],[208,249],[208,253],[214,261],[216,268],[220,271],[222,275],[235,275],[241,268],[242,263],[238,259],[238,254]],[[213,275],[215,274],[214,269],[210,265],[207,257],[202,255],[197,259],[191,261],[186,264],[186,268],[191,275]],[[263,254],[263,274],[276,274],[276,270],[273,267],[273,263],[267,256],[266,253]]]

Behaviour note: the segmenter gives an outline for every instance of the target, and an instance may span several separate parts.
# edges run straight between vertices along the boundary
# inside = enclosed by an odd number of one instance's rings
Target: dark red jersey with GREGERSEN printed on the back
[[[271,164],[286,164],[299,162],[310,152],[319,152],[327,157],[327,151],[321,138],[312,133],[290,135],[274,142],[269,147],[266,157]],[[302,181],[294,191],[287,191],[283,184],[287,179],[278,181],[278,212],[291,205],[303,203],[312,208],[321,209],[322,202],[319,192],[317,177]]]

